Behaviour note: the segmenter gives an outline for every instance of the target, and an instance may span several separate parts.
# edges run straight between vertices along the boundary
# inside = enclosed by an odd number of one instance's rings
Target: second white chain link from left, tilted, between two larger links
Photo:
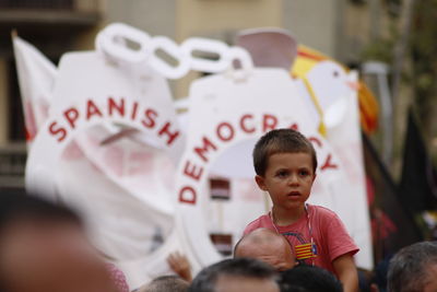
[[[157,57],[155,52],[158,49],[162,49],[164,52],[175,58],[179,65],[176,67],[170,66],[162,58]],[[189,56],[185,55],[178,45],[168,37],[153,37],[151,42],[151,52],[150,65],[166,78],[179,79],[190,70]]]

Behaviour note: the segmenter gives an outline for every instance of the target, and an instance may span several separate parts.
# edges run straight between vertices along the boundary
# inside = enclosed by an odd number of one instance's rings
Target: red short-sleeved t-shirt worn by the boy
[[[345,254],[355,255],[359,248],[347,234],[343,222],[334,212],[314,205],[307,205],[307,210],[308,214],[305,212],[296,222],[287,226],[275,226],[269,214],[261,215],[246,226],[244,234],[246,235],[260,227],[277,230],[294,246],[295,254],[297,254],[300,247],[296,249],[296,246],[311,243],[309,232],[311,229],[312,242],[316,245],[316,250],[314,252],[317,255],[315,258],[304,259],[304,262],[311,265],[314,260],[316,266],[335,273],[332,261]]]

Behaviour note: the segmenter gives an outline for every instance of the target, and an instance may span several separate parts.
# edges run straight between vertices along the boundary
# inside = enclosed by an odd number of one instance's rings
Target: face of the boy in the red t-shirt
[[[273,206],[284,209],[303,208],[311,192],[316,174],[309,153],[275,153],[269,157],[264,176],[256,182],[272,198]]]

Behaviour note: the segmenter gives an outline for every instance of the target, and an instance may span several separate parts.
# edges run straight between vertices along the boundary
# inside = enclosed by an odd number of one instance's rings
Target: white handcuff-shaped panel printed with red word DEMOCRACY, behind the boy
[[[246,224],[269,211],[270,205],[262,206],[265,195],[253,183],[240,191],[228,188],[227,194],[214,198],[211,180],[216,176],[231,184],[252,180],[251,149],[271,129],[297,128],[315,142],[320,183],[311,196],[335,209],[341,207],[342,199],[327,187],[330,180],[344,178],[340,162],[317,129],[308,127],[311,122],[305,103],[285,70],[257,68],[245,80],[224,74],[199,79],[192,83],[190,98],[187,145],[177,174],[177,224],[184,230],[189,254],[200,266],[222,258],[217,249],[223,252],[220,247],[226,241],[214,247],[212,235],[227,235],[227,244],[233,246]],[[261,203],[250,208],[253,201]],[[220,230],[212,225],[211,213],[222,214]]]

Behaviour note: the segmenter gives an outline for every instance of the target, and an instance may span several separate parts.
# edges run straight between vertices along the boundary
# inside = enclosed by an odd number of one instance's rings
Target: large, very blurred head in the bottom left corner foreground
[[[34,196],[0,196],[0,291],[117,292],[71,210]]]

